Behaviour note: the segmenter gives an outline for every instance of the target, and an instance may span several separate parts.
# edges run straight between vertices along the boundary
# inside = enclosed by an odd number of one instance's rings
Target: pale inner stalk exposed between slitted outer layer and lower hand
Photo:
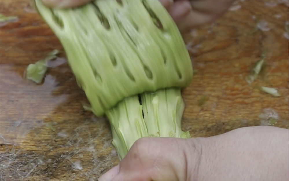
[[[179,88],[141,94],[141,103],[139,96],[131,96],[106,112],[120,159],[142,137],[190,138],[189,132],[181,129],[185,105]]]

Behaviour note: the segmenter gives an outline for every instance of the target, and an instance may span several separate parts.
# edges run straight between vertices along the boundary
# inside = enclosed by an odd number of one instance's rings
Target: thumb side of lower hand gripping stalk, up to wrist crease
[[[186,181],[199,162],[194,139],[147,137],[137,140],[126,157],[99,181]]]

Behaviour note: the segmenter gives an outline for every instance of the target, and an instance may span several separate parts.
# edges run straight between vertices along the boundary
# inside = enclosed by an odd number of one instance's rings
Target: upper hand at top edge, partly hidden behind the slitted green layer
[[[43,0],[47,6],[69,8],[91,0]],[[181,32],[220,17],[234,0],[159,0],[170,13]]]

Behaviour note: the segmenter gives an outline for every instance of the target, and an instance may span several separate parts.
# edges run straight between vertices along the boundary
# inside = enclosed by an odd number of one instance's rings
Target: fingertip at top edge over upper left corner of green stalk
[[[42,0],[43,3],[49,7],[54,8],[71,8],[81,6],[92,0]]]

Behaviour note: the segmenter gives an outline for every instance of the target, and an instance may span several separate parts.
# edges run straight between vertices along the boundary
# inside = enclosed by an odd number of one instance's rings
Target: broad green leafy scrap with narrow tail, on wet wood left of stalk
[[[28,65],[25,74],[26,79],[32,80],[35,83],[40,84],[48,69],[47,62],[57,58],[56,55],[59,53],[60,51],[55,49],[52,52],[50,52],[45,59]]]

